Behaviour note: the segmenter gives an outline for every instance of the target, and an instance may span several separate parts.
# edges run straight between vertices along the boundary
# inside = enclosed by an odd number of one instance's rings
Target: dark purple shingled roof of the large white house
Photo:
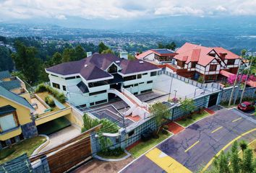
[[[122,68],[120,71],[122,74],[132,74],[140,71],[158,69],[157,66],[145,61],[140,63],[140,60],[128,61],[114,56],[111,53],[94,53],[88,58],[84,58],[80,61],[61,63],[47,68],[46,71],[61,75],[80,74],[86,80],[101,79],[111,76],[105,71],[111,63],[119,65]]]

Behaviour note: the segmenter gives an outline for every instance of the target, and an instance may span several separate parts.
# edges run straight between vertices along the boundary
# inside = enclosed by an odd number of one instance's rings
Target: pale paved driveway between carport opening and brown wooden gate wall
[[[50,138],[50,143],[48,143],[48,145],[45,148],[43,148],[40,152],[48,151],[49,149],[54,148],[55,146],[59,146],[59,144],[69,141],[70,139],[78,136],[80,133],[81,130],[75,128],[74,126],[69,126],[62,130],[59,130],[58,132],[48,136]]]

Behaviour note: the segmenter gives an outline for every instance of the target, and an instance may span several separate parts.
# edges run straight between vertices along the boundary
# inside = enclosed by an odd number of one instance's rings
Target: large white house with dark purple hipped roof
[[[146,61],[129,61],[99,53],[46,68],[51,86],[64,92],[73,105],[85,107],[115,98],[108,89],[120,91],[124,87],[133,94],[150,92],[159,70],[161,68]]]

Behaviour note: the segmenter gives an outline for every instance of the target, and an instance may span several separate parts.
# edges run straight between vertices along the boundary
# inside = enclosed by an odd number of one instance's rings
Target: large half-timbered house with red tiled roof
[[[224,48],[208,48],[192,43],[185,43],[175,53],[171,63],[165,63],[166,71],[196,80],[202,76],[204,81],[216,81],[226,72],[236,74],[241,61],[239,56]],[[146,57],[142,54],[137,57]]]

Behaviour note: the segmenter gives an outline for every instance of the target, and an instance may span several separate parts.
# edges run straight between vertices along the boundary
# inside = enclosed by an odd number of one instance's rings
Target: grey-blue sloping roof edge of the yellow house
[[[17,104],[22,105],[23,107],[27,107],[30,110],[34,110],[33,106],[30,105],[30,103],[27,102],[25,98],[20,97],[19,95],[14,94],[13,92],[9,92],[3,86],[0,86],[0,96],[9,99],[12,102],[16,102]]]

